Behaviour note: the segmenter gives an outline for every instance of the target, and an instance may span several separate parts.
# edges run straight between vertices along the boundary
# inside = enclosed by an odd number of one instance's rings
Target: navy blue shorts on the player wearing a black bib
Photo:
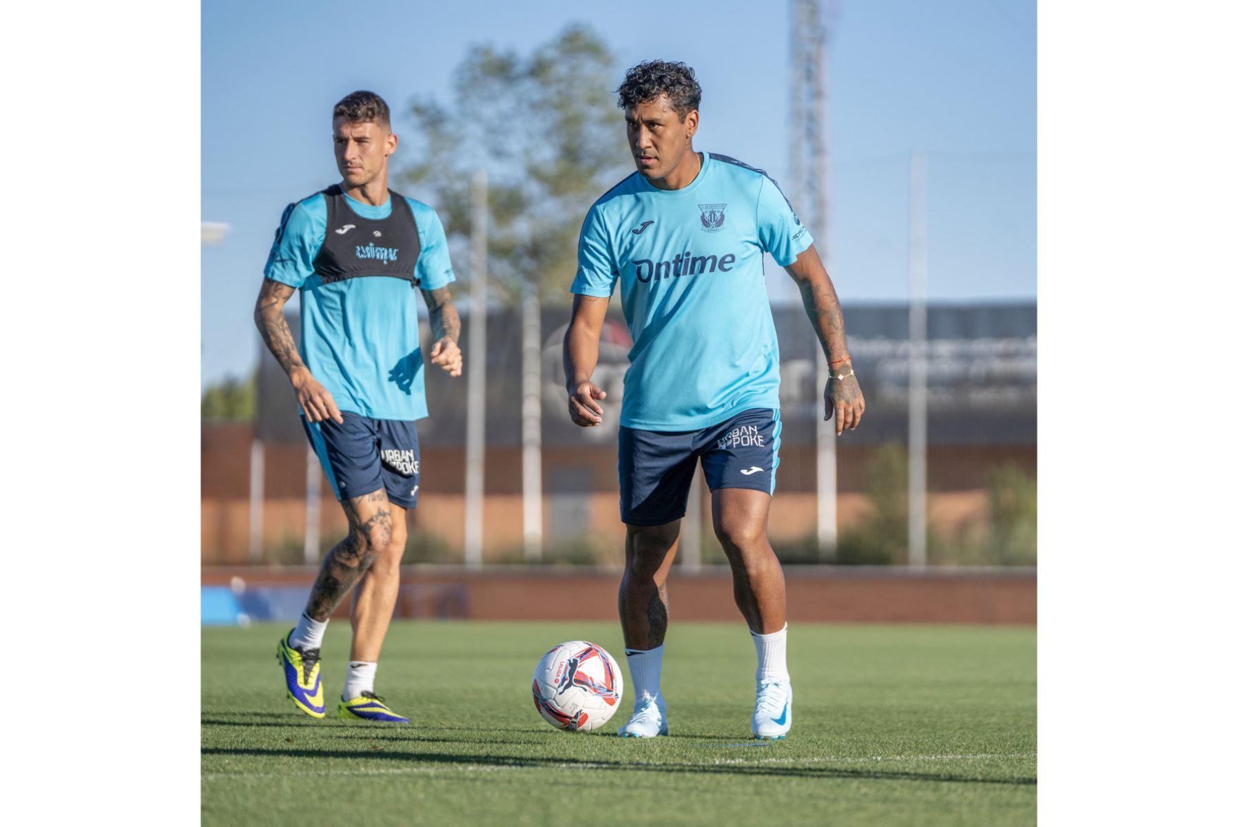
[[[343,425],[301,417],[336,498],[352,500],[383,489],[389,502],[417,508],[420,454],[413,423],[371,419],[351,410],[340,415]]]

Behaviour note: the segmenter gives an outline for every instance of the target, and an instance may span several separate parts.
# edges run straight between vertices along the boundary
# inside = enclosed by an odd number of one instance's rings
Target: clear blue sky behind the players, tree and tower
[[[929,157],[930,299],[1033,299],[1033,0],[837,6],[830,259],[846,310],[908,295],[913,150]],[[203,384],[255,363],[250,312],[272,233],[288,202],[335,180],[330,110],[339,98],[370,88],[397,112],[413,94],[445,98],[466,46],[527,52],[570,21],[589,24],[610,45],[618,83],[625,67],[651,57],[692,66],[703,87],[696,145],[786,184],[786,2],[205,1],[202,218],[232,231],[222,245],[202,249]],[[401,131],[399,118],[393,128]],[[768,279],[773,300],[790,296],[781,272]]]

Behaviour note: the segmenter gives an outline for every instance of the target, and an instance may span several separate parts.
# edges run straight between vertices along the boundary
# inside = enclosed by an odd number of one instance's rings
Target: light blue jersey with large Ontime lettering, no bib
[[[765,172],[702,153],[683,190],[634,172],[585,216],[573,293],[616,283],[632,334],[620,424],[709,428],[779,408],[779,342],[763,253],[787,267],[813,243]]]

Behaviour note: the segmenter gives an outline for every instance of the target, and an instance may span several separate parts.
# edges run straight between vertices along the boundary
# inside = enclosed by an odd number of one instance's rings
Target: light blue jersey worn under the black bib
[[[391,198],[377,207],[347,196],[345,201],[361,218],[392,214]],[[455,281],[439,216],[420,201],[405,201],[422,245],[414,269],[420,288],[436,290]],[[263,269],[273,281],[301,290],[301,361],[341,410],[372,419],[424,418],[418,291],[405,279],[383,275],[325,284],[314,263],[326,233],[327,206],[321,192],[290,205]]]

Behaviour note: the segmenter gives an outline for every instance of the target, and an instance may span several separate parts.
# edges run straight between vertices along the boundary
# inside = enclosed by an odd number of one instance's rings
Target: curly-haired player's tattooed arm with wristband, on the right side
[[[810,316],[813,332],[818,335],[822,352],[827,355],[831,378],[822,389],[825,419],[831,419],[836,412],[836,435],[852,430],[861,424],[866,412],[866,398],[861,393],[857,377],[852,374],[852,357],[848,356],[848,340],[844,337],[844,316],[839,311],[839,299],[831,284],[827,269],[822,267],[818,252],[811,244],[796,257],[787,274],[801,290],[801,303]],[[843,376],[844,378],[838,378]]]

